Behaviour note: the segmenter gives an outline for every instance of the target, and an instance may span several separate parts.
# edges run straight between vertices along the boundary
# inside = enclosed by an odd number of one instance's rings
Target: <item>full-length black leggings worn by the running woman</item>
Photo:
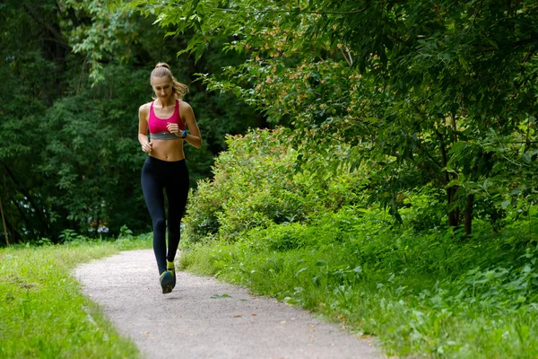
[[[153,251],[157,259],[159,274],[166,270],[166,260],[174,261],[178,250],[179,225],[188,196],[188,170],[185,160],[166,162],[148,156],[142,168],[143,197],[152,216]],[[168,197],[168,254],[166,248],[166,215],[164,193]]]

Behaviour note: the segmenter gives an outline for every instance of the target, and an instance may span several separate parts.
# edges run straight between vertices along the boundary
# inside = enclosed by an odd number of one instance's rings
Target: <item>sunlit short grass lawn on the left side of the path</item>
[[[138,357],[134,343],[82,295],[73,269],[119,250],[150,247],[141,236],[0,250],[0,357]]]

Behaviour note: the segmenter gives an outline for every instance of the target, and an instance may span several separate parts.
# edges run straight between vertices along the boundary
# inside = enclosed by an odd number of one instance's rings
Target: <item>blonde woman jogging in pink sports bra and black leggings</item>
[[[168,64],[159,63],[150,77],[154,101],[138,110],[138,141],[149,156],[143,164],[143,197],[152,216],[153,251],[159,268],[162,293],[176,285],[174,258],[179,244],[179,224],[187,205],[188,170],[183,144],[202,146],[202,137],[193,109],[181,101],[188,92],[178,83]],[[148,138],[148,129],[150,138]],[[187,134],[188,129],[188,134]],[[164,209],[164,191],[168,198],[168,223]],[[168,224],[168,251],[165,233]]]

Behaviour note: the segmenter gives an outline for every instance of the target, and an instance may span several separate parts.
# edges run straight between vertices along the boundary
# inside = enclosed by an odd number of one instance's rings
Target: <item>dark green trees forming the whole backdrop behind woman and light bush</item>
[[[498,226],[536,197],[536,4],[401,3],[1,4],[7,241],[150,229],[136,109],[161,60],[204,128],[194,188],[227,134],[280,125],[296,170],[368,169],[355,190],[396,221],[428,185],[439,223]]]

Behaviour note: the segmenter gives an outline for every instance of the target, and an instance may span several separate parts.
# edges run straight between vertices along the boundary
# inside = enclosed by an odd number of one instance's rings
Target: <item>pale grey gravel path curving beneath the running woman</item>
[[[152,250],[132,250],[75,270],[121,335],[146,358],[381,358],[360,339],[308,311],[212,277],[178,272],[162,294]]]

